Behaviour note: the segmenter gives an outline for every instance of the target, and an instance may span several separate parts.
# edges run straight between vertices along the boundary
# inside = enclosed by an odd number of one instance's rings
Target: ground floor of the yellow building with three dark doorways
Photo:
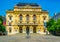
[[[6,30],[8,34],[16,34],[16,33],[40,33],[44,34],[44,26],[27,26],[27,25],[19,25],[19,26],[6,26]]]

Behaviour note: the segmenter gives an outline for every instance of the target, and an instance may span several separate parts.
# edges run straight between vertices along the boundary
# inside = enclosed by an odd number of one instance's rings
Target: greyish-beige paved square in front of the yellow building
[[[0,36],[0,42],[60,42],[60,36]]]

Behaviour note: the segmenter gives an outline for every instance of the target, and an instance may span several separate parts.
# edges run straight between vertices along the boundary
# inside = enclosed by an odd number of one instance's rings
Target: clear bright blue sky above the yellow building
[[[53,17],[54,13],[60,12],[60,0],[0,0],[0,15],[5,16],[6,10],[13,9],[19,2],[37,3],[42,10],[49,12],[50,17]]]

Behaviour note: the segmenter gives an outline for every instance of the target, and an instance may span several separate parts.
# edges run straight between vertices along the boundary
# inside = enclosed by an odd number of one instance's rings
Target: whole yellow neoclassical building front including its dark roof
[[[42,10],[36,3],[18,3],[13,10],[6,11],[7,33],[44,34],[44,20],[49,20],[48,11]]]

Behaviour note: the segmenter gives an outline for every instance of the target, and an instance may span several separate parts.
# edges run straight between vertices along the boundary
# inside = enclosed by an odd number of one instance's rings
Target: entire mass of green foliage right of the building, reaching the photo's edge
[[[47,30],[52,32],[52,31],[58,31],[60,32],[60,19],[57,21],[50,19],[49,22],[47,22]]]

